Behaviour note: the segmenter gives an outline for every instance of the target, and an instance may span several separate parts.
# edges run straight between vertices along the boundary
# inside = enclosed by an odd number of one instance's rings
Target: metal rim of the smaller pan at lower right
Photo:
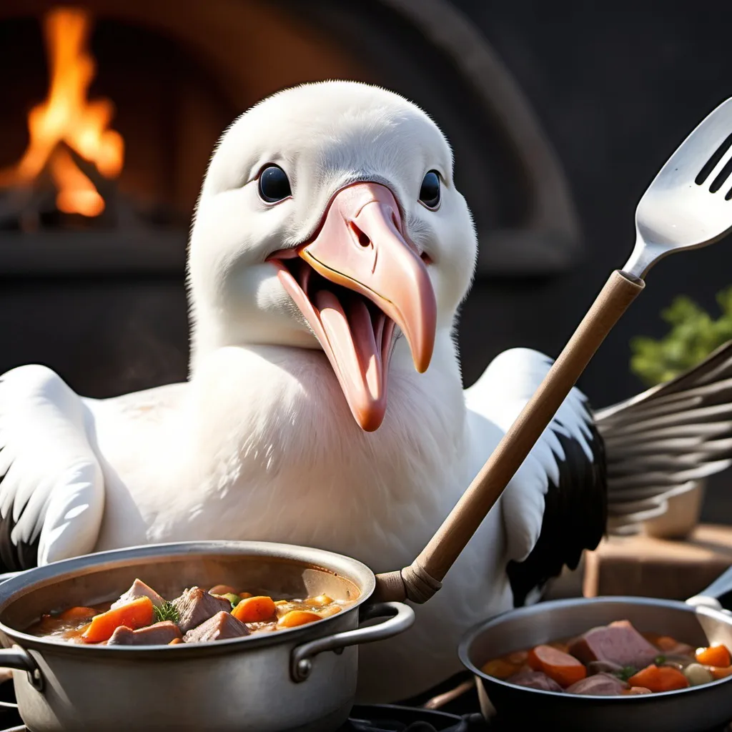
[[[684,613],[695,613],[698,615],[707,615],[715,620],[722,621],[725,625],[732,626],[732,616],[725,615],[725,613],[713,608],[707,608],[704,606],[689,605],[687,602],[681,602],[680,600],[660,600],[655,597],[632,597],[630,595],[605,595],[600,597],[572,597],[564,600],[549,600],[548,602],[538,602],[536,605],[529,605],[524,608],[515,608],[514,610],[506,610],[500,615],[494,616],[488,620],[480,621],[471,627],[465,635],[463,635],[460,644],[458,645],[458,657],[460,662],[465,666],[468,671],[474,674],[474,676],[490,681],[491,684],[498,684],[502,687],[506,687],[511,690],[518,690],[521,692],[531,692],[534,694],[543,695],[548,698],[561,698],[562,701],[572,698],[576,701],[569,703],[576,704],[587,704],[597,703],[598,701],[610,702],[610,703],[644,703],[650,702],[658,698],[668,698],[669,696],[684,694],[688,692],[711,689],[712,687],[720,686],[720,684],[726,684],[728,681],[732,681],[732,676],[726,676],[724,679],[716,679],[710,681],[708,684],[700,684],[695,687],[687,687],[686,689],[677,689],[674,691],[656,692],[654,694],[634,694],[634,695],[618,695],[618,696],[602,696],[594,694],[566,694],[558,691],[545,691],[542,689],[531,689],[529,687],[518,686],[518,684],[509,684],[508,681],[502,679],[496,679],[495,676],[488,676],[487,673],[481,671],[470,659],[470,650],[476,638],[483,632],[490,630],[496,626],[501,625],[505,621],[517,616],[529,616],[540,615],[545,609],[549,608],[569,608],[576,607],[577,605],[596,605],[598,603],[617,603],[617,604],[632,604],[632,605],[651,605],[657,608],[666,608],[668,610],[681,610]],[[632,701],[631,701],[632,700]],[[547,700],[548,701],[548,700]]]

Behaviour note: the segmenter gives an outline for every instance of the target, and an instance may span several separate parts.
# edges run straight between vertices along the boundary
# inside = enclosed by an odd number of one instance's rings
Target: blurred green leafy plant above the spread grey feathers
[[[668,381],[697,365],[716,348],[732,340],[732,287],[717,294],[722,315],[712,319],[699,305],[681,295],[662,310],[671,330],[661,340],[638,336],[631,340],[630,370],[649,386]]]

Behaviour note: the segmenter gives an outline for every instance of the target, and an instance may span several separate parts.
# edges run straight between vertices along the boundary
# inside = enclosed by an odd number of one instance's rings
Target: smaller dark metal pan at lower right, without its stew
[[[724,643],[732,649],[732,613],[719,598],[732,591],[732,568],[686,602],[646,597],[593,597],[539,602],[509,610],[470,630],[460,660],[475,675],[481,712],[490,720],[564,732],[698,732],[732,719],[732,676],[679,691],[638,696],[584,696],[520,687],[480,670],[491,658],[571,638],[613,620],[630,620],[641,632],[658,632],[694,646]],[[505,723],[505,722],[504,722]],[[539,728],[539,727],[537,727]]]

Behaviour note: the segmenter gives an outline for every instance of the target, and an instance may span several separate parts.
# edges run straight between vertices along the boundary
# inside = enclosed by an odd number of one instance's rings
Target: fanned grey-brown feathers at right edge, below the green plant
[[[732,341],[595,421],[607,450],[608,531],[635,533],[668,498],[732,464]]]

